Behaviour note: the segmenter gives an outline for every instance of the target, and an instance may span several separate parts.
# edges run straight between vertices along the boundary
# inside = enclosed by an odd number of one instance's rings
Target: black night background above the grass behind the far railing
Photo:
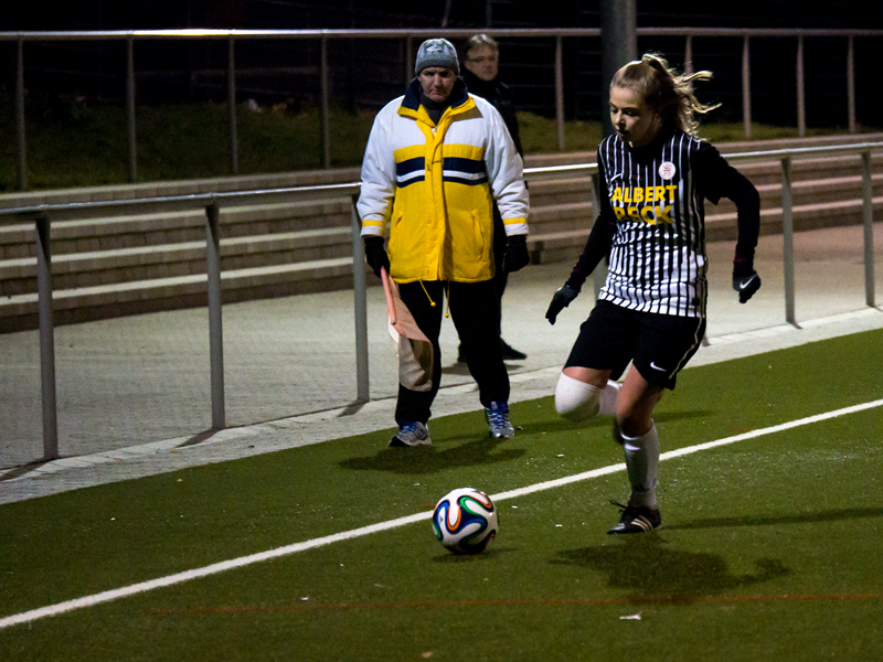
[[[696,7],[701,7],[698,11]],[[883,3],[742,0],[706,2],[638,0],[638,26],[704,28],[883,28]],[[599,3],[563,0],[288,1],[288,0],[98,0],[60,4],[46,0],[2,0],[0,31],[379,28],[597,28]],[[859,122],[879,126],[875,55],[883,38],[855,42]],[[518,106],[554,115],[554,40],[501,39],[501,76]],[[416,52],[418,43],[414,43]],[[457,44],[458,46],[461,44]],[[752,117],[796,125],[796,38],[752,40]],[[600,41],[564,40],[565,113],[571,119],[600,117]],[[641,38],[638,50],[666,55],[683,66],[683,38]],[[3,45],[2,83],[14,82],[14,45]],[[404,40],[331,40],[332,103],[349,109],[376,109],[402,93],[412,63]],[[227,45],[217,41],[136,42],[139,104],[226,100]],[[125,43],[44,42],[24,46],[29,94],[72,95],[120,102],[125,98]],[[714,72],[698,90],[705,103],[722,103],[714,119],[742,119],[742,39],[696,38],[694,68]],[[807,38],[805,44],[807,124],[847,124],[847,40]],[[873,67],[873,68],[872,68]],[[240,100],[259,104],[315,104],[319,93],[316,40],[241,41],[236,44]]]

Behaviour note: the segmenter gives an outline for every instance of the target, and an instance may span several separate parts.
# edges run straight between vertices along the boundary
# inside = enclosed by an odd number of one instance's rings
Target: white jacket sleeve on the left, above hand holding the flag
[[[383,236],[395,195],[395,158],[389,145],[389,106],[374,118],[362,161],[362,186],[357,210],[362,236]]]

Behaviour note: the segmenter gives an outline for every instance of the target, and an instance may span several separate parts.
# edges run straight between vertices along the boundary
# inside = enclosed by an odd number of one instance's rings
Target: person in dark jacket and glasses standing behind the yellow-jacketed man
[[[470,94],[480,96],[490,102],[500,113],[515,143],[519,156],[523,159],[524,151],[521,148],[521,138],[518,129],[518,116],[515,115],[515,104],[509,87],[500,81],[500,47],[487,34],[476,34],[466,44],[466,61],[462,72],[462,79]],[[509,271],[503,267],[503,253],[506,252],[506,231],[499,211],[494,205],[493,212],[493,255],[496,261],[496,275],[493,286],[502,300],[506,284],[509,280]],[[502,306],[502,302],[501,302]],[[507,361],[520,361],[526,359],[524,352],[512,348],[500,335],[503,348],[503,359]],[[457,360],[465,361],[462,346],[458,352]]]

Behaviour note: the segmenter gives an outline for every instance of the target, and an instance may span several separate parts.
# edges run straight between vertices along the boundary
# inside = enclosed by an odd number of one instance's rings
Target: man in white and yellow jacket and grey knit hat
[[[369,265],[379,276],[382,268],[390,274],[432,343],[425,378],[400,377],[400,431],[390,444],[429,444],[426,423],[442,376],[443,296],[478,383],[490,434],[508,438],[514,429],[499,335],[500,300],[492,282],[493,204],[506,227],[506,267],[517,271],[530,261],[521,157],[497,109],[466,92],[448,41],[424,42],[415,73],[406,94],[374,120],[358,204]],[[400,351],[400,361],[413,361],[412,354]],[[400,365],[400,375],[413,375],[411,367]]]

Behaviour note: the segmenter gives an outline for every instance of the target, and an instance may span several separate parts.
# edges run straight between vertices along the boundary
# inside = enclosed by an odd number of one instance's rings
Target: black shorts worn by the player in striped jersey
[[[678,373],[696,353],[705,335],[704,318],[638,312],[598,301],[564,367],[609,370],[618,380],[634,362],[640,375],[657,386],[674,388]]]

